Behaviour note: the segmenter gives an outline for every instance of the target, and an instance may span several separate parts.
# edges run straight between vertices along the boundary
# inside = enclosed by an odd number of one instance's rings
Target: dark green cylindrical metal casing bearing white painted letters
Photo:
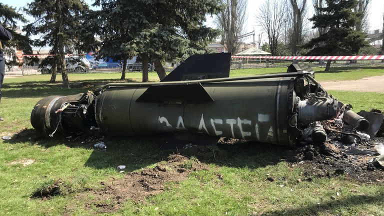
[[[294,78],[107,84],[95,118],[100,131],[113,136],[187,130],[292,146]],[[172,85],[180,92],[172,93]]]

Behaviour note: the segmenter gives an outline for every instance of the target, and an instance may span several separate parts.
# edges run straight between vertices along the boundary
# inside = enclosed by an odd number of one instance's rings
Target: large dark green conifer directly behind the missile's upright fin
[[[220,0],[97,0],[101,5],[100,55],[138,55],[142,81],[148,81],[147,63],[153,61],[160,79],[161,61],[174,61],[186,53],[204,52],[219,31],[203,25],[205,14],[219,11]],[[123,65],[124,68],[124,65]],[[124,77],[124,71],[121,78]]]

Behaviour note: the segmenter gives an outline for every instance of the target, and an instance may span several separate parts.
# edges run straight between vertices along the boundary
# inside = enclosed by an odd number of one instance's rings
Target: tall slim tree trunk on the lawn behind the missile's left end
[[[62,78],[62,85],[65,88],[70,88],[69,87],[69,80],[68,80],[68,73],[66,72],[66,66],[65,66],[65,53],[64,53],[64,26],[63,26],[63,17],[61,13],[61,2],[56,1],[56,11],[57,11],[57,23],[58,23],[58,33],[57,33],[57,42],[58,42],[58,52],[60,53],[59,55],[59,60],[58,63],[60,64],[61,68],[61,78]]]

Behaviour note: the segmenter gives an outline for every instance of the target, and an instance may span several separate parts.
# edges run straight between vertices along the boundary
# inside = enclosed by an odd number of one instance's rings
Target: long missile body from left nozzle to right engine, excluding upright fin
[[[110,83],[98,92],[43,98],[31,123],[47,135],[97,127],[112,136],[182,131],[294,146],[300,127],[337,111],[337,100],[308,76]]]

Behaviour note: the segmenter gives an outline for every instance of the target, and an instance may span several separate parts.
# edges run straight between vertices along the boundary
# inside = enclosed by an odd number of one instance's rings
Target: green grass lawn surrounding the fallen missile
[[[231,76],[281,72],[283,68],[233,70]],[[319,70],[321,68],[315,68]],[[316,73],[319,80],[358,79],[379,75],[381,67],[347,68],[345,72]],[[59,76],[57,76],[59,78]],[[102,85],[118,79],[118,73],[69,74],[72,82]],[[127,73],[128,80],[138,81],[140,73]],[[102,212],[89,203],[89,189],[101,188],[101,181],[120,179],[117,165],[126,172],[154,167],[165,160],[167,150],[147,138],[113,138],[106,136],[106,151],[92,148],[93,140],[68,141],[65,137],[37,138],[29,115],[33,105],[48,95],[85,92],[88,88],[64,89],[47,84],[49,75],[6,78],[0,104],[0,135],[15,134],[0,140],[0,212],[1,215],[94,215]],[[149,73],[149,79],[157,79]],[[59,79],[58,79],[59,80]],[[384,110],[384,94],[329,91],[339,100],[351,103],[355,111]],[[23,132],[20,132],[26,128]],[[19,134],[19,135],[17,135]],[[84,141],[82,143],[82,141]],[[213,149],[214,150],[214,149]],[[143,202],[126,201],[108,215],[384,215],[384,185],[365,184],[346,178],[314,177],[297,181],[301,170],[285,162],[292,150],[280,146],[245,143],[218,146],[204,154],[182,151],[207,164],[207,170],[192,171],[185,180],[166,183],[164,192]],[[11,162],[31,159],[30,165]],[[267,181],[271,176],[275,180]],[[52,182],[60,182],[61,195],[49,199],[31,195]],[[283,185],[283,186],[280,186]],[[336,192],[339,196],[336,196]],[[88,194],[92,196],[91,193]],[[336,199],[332,200],[331,195]],[[108,201],[108,200],[105,200]]]

